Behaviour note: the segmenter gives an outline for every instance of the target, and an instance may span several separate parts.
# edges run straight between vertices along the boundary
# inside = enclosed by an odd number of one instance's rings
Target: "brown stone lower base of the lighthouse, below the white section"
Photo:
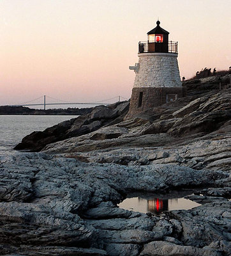
[[[142,102],[140,104],[140,93]],[[175,97],[176,96],[176,97]],[[130,109],[127,117],[136,115],[147,109],[165,104],[167,101],[186,96],[183,88],[133,88],[130,100]],[[139,106],[140,105],[140,106]]]

